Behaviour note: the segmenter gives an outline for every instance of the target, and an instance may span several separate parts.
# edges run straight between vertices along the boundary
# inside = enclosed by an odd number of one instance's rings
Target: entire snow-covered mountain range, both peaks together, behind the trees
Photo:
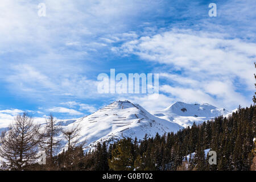
[[[171,131],[176,133],[183,127],[192,126],[193,122],[201,123],[218,115],[228,116],[230,113],[209,104],[176,102],[153,114],[148,113],[138,104],[129,101],[115,101],[85,117],[58,120],[57,125],[64,130],[79,125],[81,127],[79,140],[80,142],[86,140],[85,151],[87,151],[94,148],[97,142],[113,143],[122,137],[133,139],[137,137],[139,140],[145,134],[148,137],[154,137],[156,133],[160,135]],[[45,119],[37,121],[37,123],[43,126]],[[6,130],[8,125],[7,122],[2,125],[0,123],[0,131]],[[59,138],[63,138],[63,136],[59,135]],[[64,142],[63,147],[65,148]]]

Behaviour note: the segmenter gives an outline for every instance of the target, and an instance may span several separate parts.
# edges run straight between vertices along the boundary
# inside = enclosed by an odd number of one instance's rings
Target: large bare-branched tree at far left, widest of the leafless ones
[[[35,162],[40,140],[39,125],[27,113],[17,115],[10,130],[0,139],[0,156],[10,168],[22,170]]]

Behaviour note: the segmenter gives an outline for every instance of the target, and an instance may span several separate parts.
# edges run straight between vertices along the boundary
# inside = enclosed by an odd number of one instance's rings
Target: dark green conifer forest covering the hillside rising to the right
[[[34,164],[27,169],[56,170],[250,170],[253,169],[256,128],[255,106],[239,108],[229,118],[193,125],[177,133],[154,138],[123,138],[98,143],[84,154],[76,147],[53,158],[51,166]],[[217,164],[209,165],[204,150],[217,153]],[[191,155],[195,152],[195,155]],[[190,157],[184,158],[189,155]],[[254,160],[255,161],[255,160]],[[255,164],[254,164],[255,165]]]

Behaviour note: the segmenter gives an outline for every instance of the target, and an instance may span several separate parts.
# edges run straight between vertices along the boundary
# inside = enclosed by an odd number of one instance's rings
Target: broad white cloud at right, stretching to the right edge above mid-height
[[[156,61],[184,69],[189,75],[204,72],[210,75],[238,76],[249,89],[253,89],[252,64],[256,44],[238,39],[228,40],[220,35],[195,31],[167,31],[152,37],[142,37],[126,42],[119,48],[144,60]],[[205,75],[205,74],[204,74]]]

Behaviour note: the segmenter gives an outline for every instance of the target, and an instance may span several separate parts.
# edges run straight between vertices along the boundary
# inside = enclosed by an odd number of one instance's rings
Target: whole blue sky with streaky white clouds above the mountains
[[[209,3],[217,17],[209,17]],[[255,9],[251,1],[2,0],[0,119],[22,111],[75,118],[123,99],[147,110],[175,101],[249,106]],[[159,73],[158,100],[99,94],[97,76],[110,68]]]

